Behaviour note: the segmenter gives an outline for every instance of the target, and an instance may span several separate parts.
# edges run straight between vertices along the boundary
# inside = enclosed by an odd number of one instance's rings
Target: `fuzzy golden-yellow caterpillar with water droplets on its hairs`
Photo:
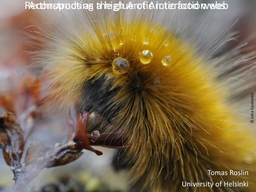
[[[67,106],[74,101],[80,112],[95,111],[111,131],[125,132],[136,191],[253,191],[254,135],[227,101],[235,91],[225,84],[250,55],[233,55],[234,49],[213,58],[216,47],[203,50],[189,29],[178,32],[182,27],[168,12],[95,12],[77,13],[71,29],[43,32],[50,41],[39,55],[51,96]],[[246,66],[242,72],[254,67]],[[232,181],[248,186],[224,186]]]

